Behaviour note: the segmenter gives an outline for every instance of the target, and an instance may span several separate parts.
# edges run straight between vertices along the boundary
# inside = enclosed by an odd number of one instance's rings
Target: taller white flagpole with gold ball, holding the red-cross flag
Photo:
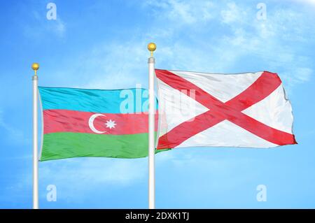
[[[155,43],[148,44],[151,57],[148,58],[149,71],[149,115],[148,115],[148,208],[155,209],[155,94],[154,94],[154,65],[153,51]]]

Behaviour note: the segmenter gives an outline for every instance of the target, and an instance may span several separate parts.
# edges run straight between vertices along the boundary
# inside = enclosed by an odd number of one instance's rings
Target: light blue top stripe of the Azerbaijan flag
[[[43,110],[65,109],[92,113],[139,113],[148,111],[148,90],[76,89],[38,87]],[[136,100],[137,99],[137,100]],[[158,101],[156,103],[158,109]]]

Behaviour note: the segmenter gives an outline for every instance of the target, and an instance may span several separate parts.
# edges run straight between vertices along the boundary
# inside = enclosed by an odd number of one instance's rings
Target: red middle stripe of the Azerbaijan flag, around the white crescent
[[[43,133],[73,132],[96,134],[89,127],[90,117],[97,113],[76,110],[43,110]],[[106,131],[104,134],[142,134],[148,133],[148,114],[111,114],[95,118],[93,124],[97,131]],[[106,127],[106,122],[112,120],[116,123],[114,128]],[[158,112],[155,114],[155,131],[158,129]]]

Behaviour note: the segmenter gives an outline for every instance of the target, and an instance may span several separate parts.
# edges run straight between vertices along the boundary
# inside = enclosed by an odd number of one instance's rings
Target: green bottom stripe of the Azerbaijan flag
[[[155,153],[165,150],[157,150]],[[148,156],[148,134],[106,135],[58,132],[43,135],[41,161],[71,157]]]

